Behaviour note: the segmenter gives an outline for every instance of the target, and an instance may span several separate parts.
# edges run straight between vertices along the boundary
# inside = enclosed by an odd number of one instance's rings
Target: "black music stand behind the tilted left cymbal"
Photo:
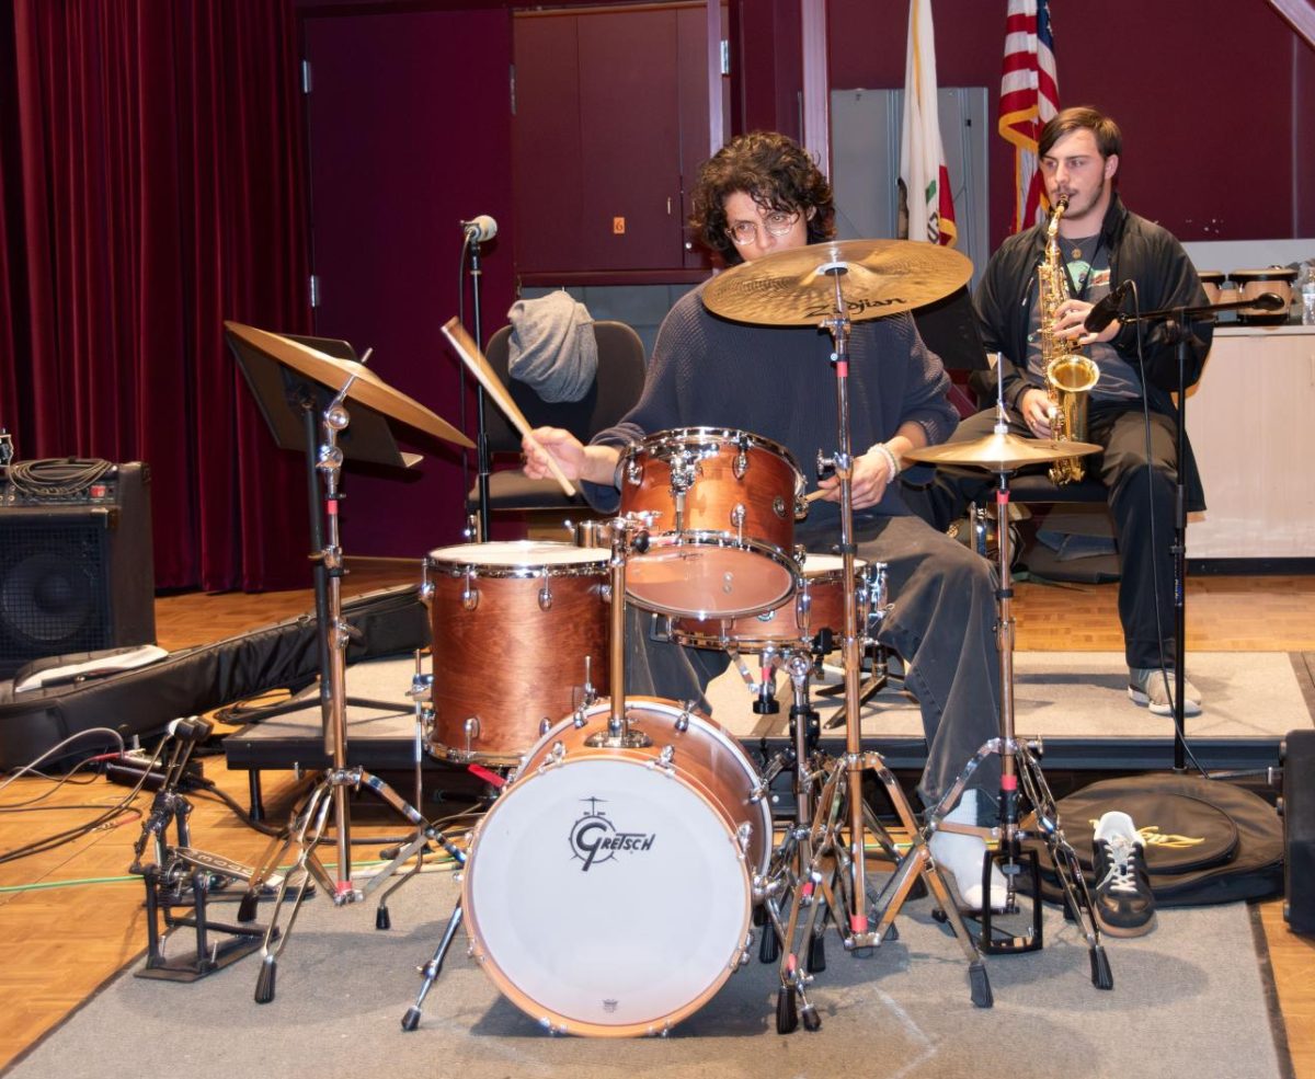
[[[281,336],[305,344],[310,348],[333,356],[338,360],[355,360],[356,354],[351,344],[333,338],[297,336],[296,334],[283,334]],[[320,643],[320,711],[325,723],[329,724],[329,685],[323,672],[329,669],[329,643],[323,633],[327,622],[327,569],[320,552],[323,549],[323,524],[321,519],[322,490],[320,485],[320,471],[316,468],[318,459],[318,419],[325,409],[337,396],[334,390],[321,382],[308,379],[297,371],[291,369],[274,356],[262,352],[249,344],[229,330],[224,331],[224,339],[233,351],[242,375],[246,377],[251,393],[270,432],[280,449],[292,449],[305,453],[306,457],[306,497],[310,506],[310,549],[314,557],[314,589],[316,589],[316,623],[321,628]],[[351,403],[351,426],[339,435],[339,447],[347,461],[360,464],[384,465],[387,468],[410,469],[422,459],[419,453],[404,453],[397,448],[388,418],[359,401]],[[347,698],[347,704],[358,708],[384,708],[397,707],[396,700],[370,700],[364,698]],[[300,700],[289,700],[285,704],[274,704],[259,710],[258,719],[274,719],[279,715],[300,711],[304,707]]]

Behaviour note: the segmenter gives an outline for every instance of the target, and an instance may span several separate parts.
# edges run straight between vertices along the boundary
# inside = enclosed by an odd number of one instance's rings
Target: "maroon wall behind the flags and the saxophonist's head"
[[[997,118],[1003,0],[932,0],[940,85],[985,85]],[[1123,127],[1128,204],[1181,239],[1290,237],[1311,198],[1294,176],[1315,142],[1311,46],[1266,0],[1052,0],[1060,104],[1091,104]],[[909,5],[831,0],[836,88],[903,85]],[[1304,96],[1299,96],[1302,91]],[[993,133],[992,246],[1013,213],[1013,155]],[[1304,158],[1297,156],[1304,154]],[[1310,183],[1307,180],[1307,183]]]

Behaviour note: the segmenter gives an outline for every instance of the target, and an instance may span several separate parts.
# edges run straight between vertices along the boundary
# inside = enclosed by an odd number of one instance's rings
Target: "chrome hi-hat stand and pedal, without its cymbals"
[[[1003,434],[1007,423],[1001,406],[997,434]],[[1009,534],[1009,477],[1013,468],[992,469],[999,480],[995,490],[995,520],[999,590],[997,593],[998,618],[995,623],[995,643],[999,653],[999,722],[1001,737],[985,743],[964,766],[959,778],[942,799],[928,811],[928,832],[945,831],[961,835],[976,835],[997,840],[994,849],[988,846],[982,858],[982,895],[990,896],[992,867],[999,869],[1006,883],[1006,911],[1016,911],[1018,883],[1023,873],[1030,878],[1032,900],[1031,928],[1018,934],[995,932],[995,916],[988,900],[981,912],[981,934],[978,946],[986,954],[1011,954],[1035,952],[1043,945],[1041,929],[1041,888],[1040,869],[1035,848],[1024,849],[1024,840],[1039,837],[1045,842],[1055,874],[1064,895],[1064,904],[1073,921],[1086,938],[1091,962],[1091,983],[1101,990],[1114,988],[1114,975],[1110,961],[1101,944],[1101,930],[1095,923],[1091,896],[1082,875],[1077,854],[1060,829],[1059,811],[1049,785],[1041,774],[1039,762],[1040,746],[1019,740],[1014,733],[1014,581],[1010,564],[1013,551]],[[977,828],[968,824],[955,824],[943,820],[944,814],[955,806],[960,794],[978,765],[990,754],[999,757],[999,827]],[[1020,825],[1020,798],[1032,806],[1036,815],[1038,836],[1026,832]]]

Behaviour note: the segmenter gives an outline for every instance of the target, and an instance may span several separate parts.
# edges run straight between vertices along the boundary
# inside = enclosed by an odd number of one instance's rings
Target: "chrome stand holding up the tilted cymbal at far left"
[[[338,477],[342,471],[343,451],[338,446],[338,434],[345,431],[351,422],[343,401],[351,388],[354,379],[348,379],[338,396],[333,400],[322,415],[325,442],[320,447],[318,468],[325,476],[323,501],[327,531],[325,547],[320,553],[321,564],[327,578],[326,587],[326,616],[321,626],[321,632],[327,641],[329,669],[325,682],[329,686],[327,694],[327,720],[325,724],[325,750],[330,757],[330,766],[325,770],[314,786],[306,792],[304,800],[293,810],[292,820],[284,836],[271,841],[259,867],[251,877],[246,895],[238,909],[239,921],[250,921],[255,916],[255,903],[260,895],[260,888],[274,874],[293,848],[297,850],[293,867],[284,874],[274,898],[274,908],[270,913],[270,924],[266,929],[264,941],[260,946],[260,974],[256,979],[255,1001],[267,1004],[274,1000],[275,973],[279,955],[287,946],[296,924],[297,913],[306,898],[312,878],[317,881],[331,896],[335,906],[358,903],[380,887],[392,875],[394,869],[412,854],[422,850],[427,841],[433,840],[443,846],[450,854],[456,857],[456,848],[438,829],[433,828],[423,815],[405,802],[388,783],[377,775],[364,769],[348,768],[347,765],[347,664],[346,652],[350,637],[350,627],[342,616],[342,547],[338,523]],[[418,662],[418,661],[417,661]],[[418,706],[417,706],[418,707]],[[417,723],[419,714],[417,711]],[[419,737],[419,735],[417,735]],[[418,765],[417,765],[418,775]],[[418,781],[417,781],[418,782]],[[363,887],[358,888],[351,874],[351,820],[348,814],[347,796],[350,790],[367,790],[379,795],[406,820],[416,825],[414,837],[405,844],[397,857],[380,873],[375,874]],[[417,799],[418,800],[418,799]],[[337,845],[337,878],[329,874],[323,862],[317,854],[318,846],[325,841],[325,831],[329,827],[329,814],[333,811],[334,841]],[[297,881],[296,892],[292,899],[292,911],[288,915],[288,924],[279,932],[279,916],[288,895],[288,884]],[[385,896],[387,898],[387,896]],[[387,928],[387,908],[383,915],[376,915],[379,928]],[[384,924],[380,924],[380,920]]]

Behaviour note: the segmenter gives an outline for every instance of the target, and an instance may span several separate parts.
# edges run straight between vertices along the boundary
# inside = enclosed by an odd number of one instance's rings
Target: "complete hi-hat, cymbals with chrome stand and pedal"
[[[1065,840],[1064,832],[1060,828],[1055,798],[1041,773],[1038,748],[1015,737],[1014,732],[1014,589],[1009,523],[1009,477],[1019,464],[1035,464],[1047,460],[1051,455],[1053,460],[1085,456],[1098,452],[1099,447],[1091,443],[1076,442],[1039,442],[1028,444],[1027,440],[1007,434],[1007,419],[1002,403],[1003,394],[999,396],[998,401],[1001,403],[997,403],[997,422],[992,435],[978,439],[974,443],[963,443],[959,446],[948,443],[917,449],[906,455],[910,460],[935,460],[943,464],[988,468],[997,474],[999,481],[995,492],[999,548],[999,587],[995,594],[998,608],[995,644],[999,653],[1001,737],[992,739],[982,745],[964,766],[964,770],[951,789],[931,807],[927,814],[927,831],[934,832],[940,828],[964,835],[977,835],[988,841],[997,841],[994,849],[988,845],[982,860],[982,894],[986,896],[986,902],[981,912],[978,946],[986,954],[1034,952],[1043,946],[1040,870],[1036,850],[1024,849],[1023,846],[1024,840],[1032,836],[1024,832],[1020,825],[1020,802],[1026,800],[1031,804],[1036,816],[1036,837],[1045,842],[1049,849],[1055,863],[1055,873],[1064,894],[1065,908],[1086,940],[1091,966],[1091,983],[1097,988],[1111,990],[1114,988],[1114,975],[1110,970],[1110,961],[1105,953],[1105,946],[1101,944],[1101,930],[1095,921],[1091,896],[1088,891],[1077,854],[1068,840]],[[967,824],[947,823],[944,820],[945,812],[955,806],[959,796],[967,789],[973,771],[990,754],[997,754],[1001,765],[999,825],[995,828],[976,828]],[[1018,911],[1018,898],[1022,891],[1019,888],[1020,878],[1026,874],[1030,881],[1027,892],[1030,892],[1032,903],[1032,917],[1030,928],[1020,933],[997,932],[997,916],[992,911],[989,900],[993,867],[997,867],[1005,878],[1006,912]]]

